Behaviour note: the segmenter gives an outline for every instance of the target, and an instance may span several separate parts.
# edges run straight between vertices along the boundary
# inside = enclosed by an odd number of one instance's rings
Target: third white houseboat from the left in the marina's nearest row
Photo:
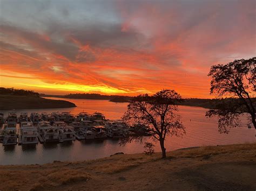
[[[59,142],[58,128],[51,126],[49,122],[38,122],[38,131],[44,142]]]

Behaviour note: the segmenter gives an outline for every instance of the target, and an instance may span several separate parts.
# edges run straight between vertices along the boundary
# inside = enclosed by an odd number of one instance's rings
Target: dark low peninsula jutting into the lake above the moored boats
[[[0,109],[44,109],[71,108],[75,104],[63,100],[49,100],[42,97],[0,95]]]

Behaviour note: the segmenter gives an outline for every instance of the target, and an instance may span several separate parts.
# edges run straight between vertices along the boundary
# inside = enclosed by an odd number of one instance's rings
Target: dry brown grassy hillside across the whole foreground
[[[0,166],[0,190],[255,190],[256,144]]]

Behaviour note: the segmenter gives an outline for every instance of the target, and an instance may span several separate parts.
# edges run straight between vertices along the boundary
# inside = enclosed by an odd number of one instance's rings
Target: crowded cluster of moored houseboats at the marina
[[[78,115],[32,112],[30,117],[28,112],[21,112],[17,118],[16,112],[12,111],[2,118],[1,124],[3,145],[37,144],[38,140],[39,143],[59,143],[76,139],[121,138],[129,134],[129,128],[122,121],[105,119],[100,112],[81,112]]]

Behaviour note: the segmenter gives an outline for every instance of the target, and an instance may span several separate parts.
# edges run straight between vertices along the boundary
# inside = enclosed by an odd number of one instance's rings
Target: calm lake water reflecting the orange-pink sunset
[[[113,103],[105,100],[76,100],[53,98],[55,100],[67,100],[75,103],[76,108],[64,109],[30,109],[16,110],[20,112],[53,112],[53,111],[70,111],[72,114],[78,114],[85,111],[93,113],[102,112],[106,118],[119,119],[126,110],[127,103]],[[4,110],[4,115],[10,110]],[[217,119],[208,119],[205,117],[207,109],[198,107],[179,107],[179,114],[186,126],[186,135],[183,138],[167,138],[165,147],[167,151],[176,150],[183,147],[206,146],[206,145],[225,145],[237,143],[253,143],[254,129],[246,128],[246,116],[241,118],[242,127],[232,129],[228,135],[220,134],[217,128]],[[190,121],[191,120],[191,121]],[[131,143],[126,146],[119,146],[118,140],[90,140],[78,141],[71,143],[58,144],[37,144],[35,146],[2,146],[0,145],[0,165],[14,164],[44,164],[53,160],[61,161],[78,161],[86,159],[97,159],[108,157],[116,152],[140,153],[144,151],[143,144]],[[160,151],[158,144],[156,151]]]

